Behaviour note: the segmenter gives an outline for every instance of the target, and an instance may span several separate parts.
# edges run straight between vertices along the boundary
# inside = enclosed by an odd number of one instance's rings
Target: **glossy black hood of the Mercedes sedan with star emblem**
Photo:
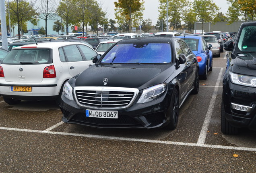
[[[74,82],[76,87],[127,87],[141,90],[165,82],[174,70],[172,64],[94,64],[79,74]],[[105,85],[104,78],[107,78]]]

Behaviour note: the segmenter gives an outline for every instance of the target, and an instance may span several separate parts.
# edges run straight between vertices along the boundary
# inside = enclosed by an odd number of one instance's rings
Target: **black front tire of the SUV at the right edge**
[[[221,132],[226,135],[237,135],[238,128],[233,127],[227,120],[226,120],[226,113],[224,109],[223,98],[221,101]]]

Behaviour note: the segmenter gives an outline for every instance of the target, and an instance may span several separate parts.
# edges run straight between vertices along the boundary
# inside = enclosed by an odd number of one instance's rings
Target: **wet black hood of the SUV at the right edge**
[[[244,53],[243,55],[244,56],[231,54],[229,64],[231,71],[238,74],[256,76],[256,53]]]

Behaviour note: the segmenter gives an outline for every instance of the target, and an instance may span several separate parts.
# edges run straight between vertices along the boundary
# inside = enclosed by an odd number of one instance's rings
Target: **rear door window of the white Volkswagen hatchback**
[[[63,47],[68,62],[83,61],[82,55],[76,45]]]

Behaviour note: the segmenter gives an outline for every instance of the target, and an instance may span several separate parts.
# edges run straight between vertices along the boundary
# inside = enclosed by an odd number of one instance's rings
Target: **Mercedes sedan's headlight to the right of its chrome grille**
[[[166,88],[167,84],[163,83],[143,90],[137,103],[147,103],[161,97]]]

